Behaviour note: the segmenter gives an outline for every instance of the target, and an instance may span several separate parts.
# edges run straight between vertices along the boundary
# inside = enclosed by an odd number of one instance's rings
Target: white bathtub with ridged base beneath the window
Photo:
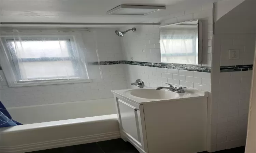
[[[1,153],[120,138],[113,98],[7,108],[24,125],[1,128]]]

